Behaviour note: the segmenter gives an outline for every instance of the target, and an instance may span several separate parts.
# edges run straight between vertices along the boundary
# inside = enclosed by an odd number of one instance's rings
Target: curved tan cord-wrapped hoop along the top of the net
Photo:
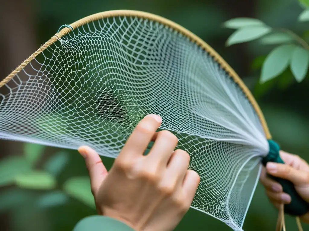
[[[144,18],[151,21],[159,22],[165,26],[168,26],[172,28],[173,30],[178,31],[179,33],[186,36],[188,39],[190,39],[191,42],[197,44],[202,49],[204,49],[210,56],[213,57],[213,59],[234,79],[235,83],[241,88],[243,93],[248,98],[249,102],[252,104],[253,108],[255,109],[261,125],[263,127],[265,137],[266,139],[272,139],[272,136],[269,132],[269,128],[267,126],[267,123],[265,121],[265,117],[257,104],[256,100],[254,99],[252,93],[248,89],[248,87],[243,83],[243,81],[240,79],[240,77],[236,74],[236,72],[232,69],[231,66],[229,66],[226,61],[212,48],[210,47],[205,41],[203,41],[201,38],[199,38],[197,35],[193,34],[191,31],[187,30],[183,26],[180,26],[179,24],[167,19],[163,18],[161,16],[158,16],[156,14],[151,14],[143,11],[136,11],[136,10],[110,10],[110,11],[104,11],[96,14],[89,15],[85,18],[79,19],[76,22],[73,22],[72,24],[67,25],[63,29],[61,29],[58,33],[53,35],[52,38],[50,38],[43,46],[41,46],[37,51],[35,51],[31,56],[29,56],[28,59],[26,59],[23,63],[21,63],[14,71],[12,71],[6,78],[4,78],[0,82],[0,88],[3,87],[6,83],[8,83],[16,74],[19,73],[28,63],[30,63],[37,55],[39,55],[41,52],[43,52],[47,47],[55,43],[58,39],[60,39],[62,36],[68,34],[69,32],[78,28],[79,26],[83,26],[89,22],[93,22],[99,19],[103,18],[110,18],[110,17],[138,17],[138,18]]]

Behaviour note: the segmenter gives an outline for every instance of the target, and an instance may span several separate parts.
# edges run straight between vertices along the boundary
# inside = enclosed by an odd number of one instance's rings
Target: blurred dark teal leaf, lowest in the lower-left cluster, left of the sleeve
[[[61,191],[46,193],[39,197],[37,205],[41,208],[63,205],[68,201],[68,196]]]

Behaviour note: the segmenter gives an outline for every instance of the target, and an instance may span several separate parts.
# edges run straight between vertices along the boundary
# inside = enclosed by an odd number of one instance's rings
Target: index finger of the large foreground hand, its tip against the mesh
[[[159,115],[146,115],[135,127],[118,157],[123,155],[142,156],[161,122],[162,119]]]

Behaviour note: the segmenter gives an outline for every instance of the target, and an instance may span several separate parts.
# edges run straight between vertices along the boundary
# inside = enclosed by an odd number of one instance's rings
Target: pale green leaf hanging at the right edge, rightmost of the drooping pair
[[[296,47],[292,54],[291,71],[298,83],[306,77],[309,64],[309,51]]]

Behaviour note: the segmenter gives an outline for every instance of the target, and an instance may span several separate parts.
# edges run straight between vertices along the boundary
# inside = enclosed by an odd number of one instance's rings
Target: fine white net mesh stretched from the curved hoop
[[[1,90],[1,139],[88,145],[112,158],[145,115],[160,115],[201,177],[192,207],[242,230],[267,139],[234,79],[185,35],[139,17],[99,19]]]

